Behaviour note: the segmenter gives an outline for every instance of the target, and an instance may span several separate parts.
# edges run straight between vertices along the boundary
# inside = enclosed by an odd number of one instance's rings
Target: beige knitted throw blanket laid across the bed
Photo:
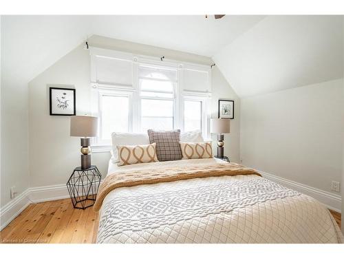
[[[168,169],[149,169],[120,172],[107,176],[100,185],[94,211],[99,211],[104,198],[114,189],[140,184],[158,184],[192,178],[209,178],[224,175],[260,175],[254,169],[236,163],[213,164],[208,166],[175,166]]]

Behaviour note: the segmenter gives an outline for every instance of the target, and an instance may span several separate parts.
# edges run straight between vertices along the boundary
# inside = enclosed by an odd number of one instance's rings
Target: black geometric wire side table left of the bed
[[[102,175],[96,166],[89,169],[74,169],[67,182],[67,189],[74,208],[88,208],[96,202]]]

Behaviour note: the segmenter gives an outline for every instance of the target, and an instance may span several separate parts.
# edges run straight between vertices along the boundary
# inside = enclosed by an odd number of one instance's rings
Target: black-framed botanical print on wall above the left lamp
[[[75,89],[49,88],[50,116],[75,116]]]

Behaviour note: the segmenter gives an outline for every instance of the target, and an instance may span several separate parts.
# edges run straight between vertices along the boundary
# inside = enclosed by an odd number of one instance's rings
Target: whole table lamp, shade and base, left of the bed
[[[71,116],[70,136],[78,136],[81,145],[81,169],[91,167],[91,138],[97,136],[98,118],[95,116]]]

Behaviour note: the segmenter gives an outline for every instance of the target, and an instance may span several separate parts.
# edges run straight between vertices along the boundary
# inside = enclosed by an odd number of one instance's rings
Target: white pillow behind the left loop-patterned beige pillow
[[[149,137],[147,133],[111,133],[111,160],[118,162],[117,145],[143,145],[149,144]]]

